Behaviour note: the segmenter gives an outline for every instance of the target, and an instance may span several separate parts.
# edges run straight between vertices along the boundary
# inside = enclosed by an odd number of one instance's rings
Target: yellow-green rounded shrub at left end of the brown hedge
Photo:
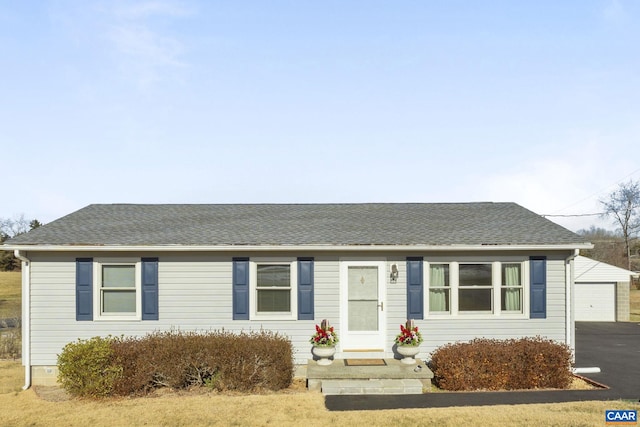
[[[116,341],[111,336],[93,337],[65,345],[58,355],[58,381],[62,388],[73,396],[110,396],[122,376],[112,349]]]

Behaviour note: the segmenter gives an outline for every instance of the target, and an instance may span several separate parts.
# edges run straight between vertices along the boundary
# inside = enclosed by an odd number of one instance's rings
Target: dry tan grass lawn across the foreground
[[[33,389],[16,391],[22,383],[19,363],[0,362],[0,367],[0,390],[8,390],[0,394],[0,425],[11,426],[600,426],[606,409],[640,409],[637,403],[613,401],[329,412],[320,393],[299,384],[261,395],[160,393],[150,398],[50,401]],[[19,375],[5,376],[5,369]]]

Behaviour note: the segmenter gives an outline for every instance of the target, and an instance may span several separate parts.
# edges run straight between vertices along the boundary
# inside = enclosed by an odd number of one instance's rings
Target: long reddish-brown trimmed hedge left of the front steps
[[[110,339],[106,347],[108,351],[99,349],[102,358],[85,355],[85,362],[94,365],[90,372],[117,368],[118,375],[109,382],[110,391],[104,395],[142,395],[161,387],[280,390],[293,380],[291,342],[267,331],[155,332],[141,338]]]

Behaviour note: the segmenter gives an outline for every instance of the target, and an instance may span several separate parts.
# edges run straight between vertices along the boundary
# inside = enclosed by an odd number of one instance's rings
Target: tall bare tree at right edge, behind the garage
[[[603,215],[615,218],[620,226],[627,256],[628,269],[631,270],[631,239],[640,231],[640,183],[629,181],[620,184],[618,189],[601,200]]]

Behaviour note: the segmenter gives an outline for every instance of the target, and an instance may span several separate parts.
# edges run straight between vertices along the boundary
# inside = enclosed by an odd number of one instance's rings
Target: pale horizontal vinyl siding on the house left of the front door
[[[338,325],[339,268],[334,256],[315,258],[315,320],[232,320],[231,256],[160,254],[158,321],[85,321],[75,319],[75,259],[104,258],[104,254],[32,256],[32,364],[55,365],[65,344],[94,336],[144,335],[157,330],[272,330],[288,336],[296,363],[311,356],[309,338],[315,324],[329,319]],[[154,254],[154,256],[157,254]],[[260,254],[262,256],[262,254]],[[117,256],[120,256],[118,254]],[[127,254],[127,256],[145,256]],[[94,317],[95,317],[94,307]]]

